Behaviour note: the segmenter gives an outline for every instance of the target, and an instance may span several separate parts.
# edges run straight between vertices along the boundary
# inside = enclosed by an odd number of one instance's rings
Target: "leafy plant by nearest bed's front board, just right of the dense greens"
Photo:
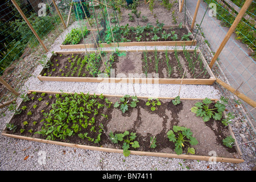
[[[130,136],[129,136],[130,134]],[[139,142],[136,141],[136,133],[129,133],[129,131],[125,131],[124,133],[120,134],[113,134],[112,131],[109,133],[110,140],[112,140],[113,143],[118,143],[118,142],[123,142],[123,155],[124,156],[129,156],[131,152],[129,151],[130,145],[133,148],[138,148],[139,147]]]

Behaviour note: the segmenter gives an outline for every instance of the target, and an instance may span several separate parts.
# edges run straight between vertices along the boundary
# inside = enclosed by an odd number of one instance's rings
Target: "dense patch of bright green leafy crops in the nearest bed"
[[[100,100],[104,101],[100,103]],[[104,96],[96,96],[84,93],[80,94],[56,94],[56,101],[52,109],[44,113],[44,126],[36,134],[41,134],[49,140],[66,139],[77,135],[81,139],[99,143],[103,125],[96,128],[96,115],[101,108],[109,108],[112,105]],[[84,132],[85,131],[85,132]],[[94,134],[97,137],[92,137]]]

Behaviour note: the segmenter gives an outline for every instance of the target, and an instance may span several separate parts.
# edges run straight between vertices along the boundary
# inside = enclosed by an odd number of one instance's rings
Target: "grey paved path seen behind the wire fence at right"
[[[195,13],[196,3],[197,0],[187,1],[187,10],[192,17]],[[196,24],[200,24],[206,9],[207,3],[202,0],[197,13]],[[209,9],[207,14],[205,14],[201,28],[205,34],[205,39],[208,40],[212,50],[216,52],[229,28],[220,26],[220,20],[217,20],[216,17],[209,16]],[[218,58],[220,59],[218,63],[221,65],[230,85],[232,85],[233,88],[238,88],[243,81],[243,85],[239,89],[240,92],[243,92],[246,96],[255,100],[256,64],[255,61],[247,55],[247,47],[241,42],[238,42],[233,34]]]

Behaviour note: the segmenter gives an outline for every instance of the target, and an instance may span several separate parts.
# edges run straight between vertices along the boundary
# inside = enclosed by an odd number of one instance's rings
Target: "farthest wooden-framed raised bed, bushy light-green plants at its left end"
[[[89,38],[90,37],[90,38]],[[94,39],[95,38],[95,39]],[[187,26],[164,26],[157,23],[152,26],[130,27],[125,26],[107,27],[88,30],[84,27],[73,28],[66,36],[61,49],[93,48],[95,41],[101,47],[122,46],[195,46],[196,40]]]

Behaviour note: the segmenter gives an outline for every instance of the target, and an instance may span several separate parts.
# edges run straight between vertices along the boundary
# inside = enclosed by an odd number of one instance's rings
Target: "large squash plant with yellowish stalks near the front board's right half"
[[[195,154],[195,148],[190,147],[189,144],[195,146],[198,141],[195,137],[192,137],[192,132],[183,126],[174,126],[173,130],[169,130],[167,137],[171,142],[175,143],[175,152],[177,155],[182,154],[183,147],[188,146],[187,154]]]

